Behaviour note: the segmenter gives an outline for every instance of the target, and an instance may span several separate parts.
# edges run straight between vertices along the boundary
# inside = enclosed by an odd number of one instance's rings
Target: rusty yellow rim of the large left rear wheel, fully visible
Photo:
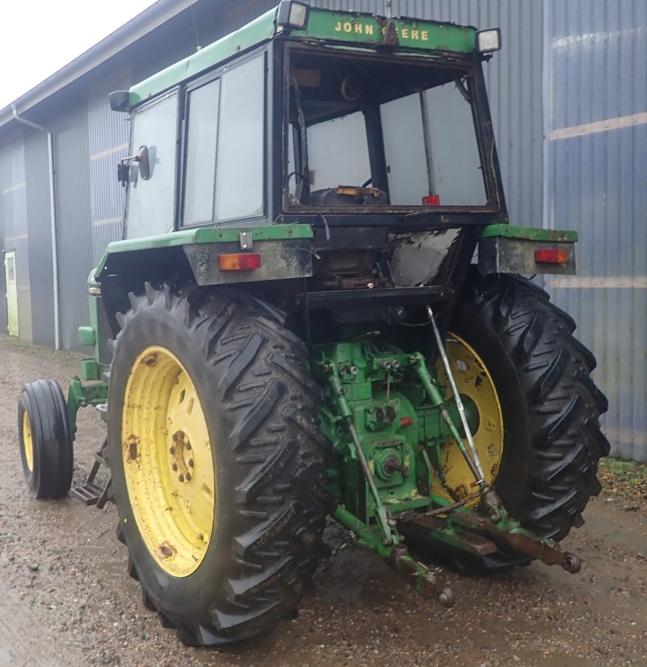
[[[131,368],[121,441],[131,508],[149,552],[168,574],[189,576],[207,553],[217,489],[200,398],[166,348],[146,348]]]

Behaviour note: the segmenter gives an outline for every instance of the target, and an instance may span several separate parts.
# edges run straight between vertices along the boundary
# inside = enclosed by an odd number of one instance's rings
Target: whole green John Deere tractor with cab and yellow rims
[[[282,0],[111,93],[125,237],[89,277],[67,402],[23,387],[23,467],[67,494],[97,406],[73,491],[115,503],[145,604],[186,644],[293,617],[328,515],[447,606],[432,561],[579,570],[558,542],[600,492],[607,403],[574,321],[518,275],[574,273],[576,233],[508,223],[499,41]]]

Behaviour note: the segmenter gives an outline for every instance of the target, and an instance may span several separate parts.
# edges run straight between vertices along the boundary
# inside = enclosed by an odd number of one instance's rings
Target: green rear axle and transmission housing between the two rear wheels
[[[391,514],[429,508],[437,450],[456,436],[462,442],[464,434],[454,426],[460,423],[456,404],[444,402],[424,357],[360,339],[317,346],[310,365],[325,386],[321,425],[338,453],[328,476],[338,502],[366,524],[383,524],[382,508]],[[476,428],[476,405],[464,402],[468,423]],[[449,425],[442,410],[450,416]],[[358,448],[368,461],[379,503]]]

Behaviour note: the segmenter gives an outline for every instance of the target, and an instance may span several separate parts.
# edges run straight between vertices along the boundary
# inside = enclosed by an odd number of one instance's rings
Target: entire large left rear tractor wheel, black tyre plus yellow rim
[[[249,296],[146,285],[129,297],[108,399],[129,572],[185,644],[266,634],[296,615],[325,552],[307,348]]]

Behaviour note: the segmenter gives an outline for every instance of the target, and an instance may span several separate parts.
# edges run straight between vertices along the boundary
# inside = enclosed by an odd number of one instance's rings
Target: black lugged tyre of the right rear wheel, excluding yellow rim
[[[535,534],[561,540],[600,493],[598,460],[609,453],[594,356],[572,336],[572,317],[522,277],[473,274],[449,328],[478,353],[498,392],[504,451],[494,487],[504,506]],[[532,559],[497,552],[450,560],[463,571],[496,572]]]

